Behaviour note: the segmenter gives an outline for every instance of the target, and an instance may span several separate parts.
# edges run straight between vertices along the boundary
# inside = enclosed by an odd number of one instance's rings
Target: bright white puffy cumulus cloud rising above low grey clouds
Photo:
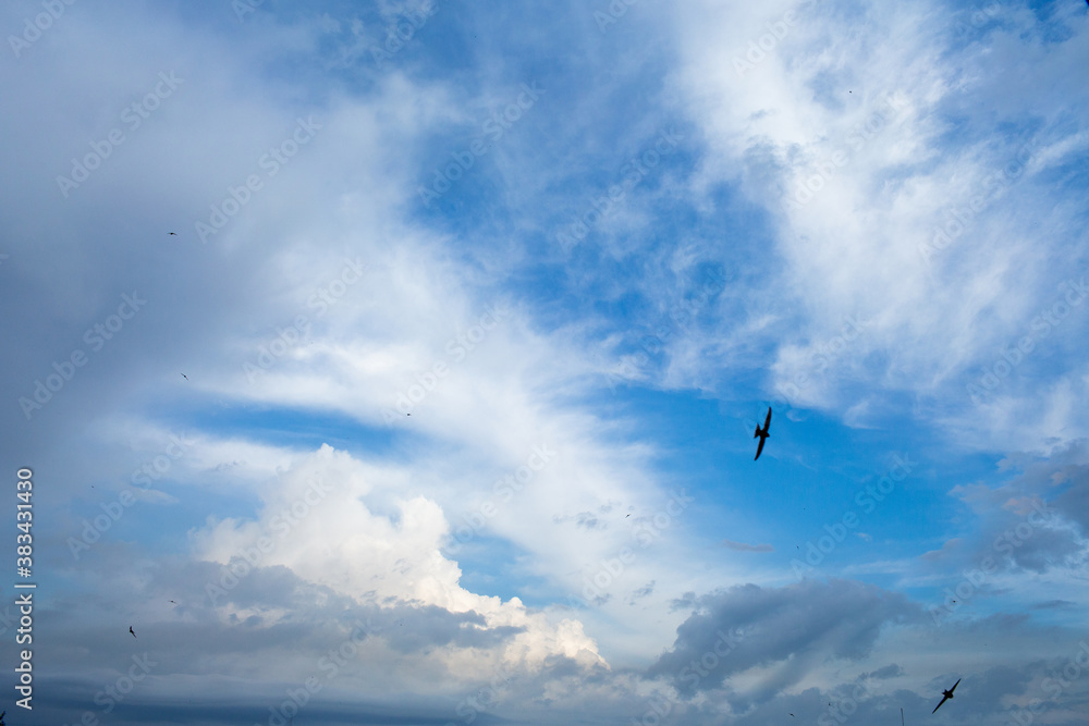
[[[577,620],[550,623],[517,598],[503,602],[462,588],[456,563],[439,552],[449,533],[441,508],[416,496],[396,501],[394,512],[376,514],[366,504],[376,476],[348,454],[322,446],[262,491],[257,519],[210,519],[195,531],[195,554],[222,565],[258,557],[262,566],[286,567],[358,602],[411,603],[424,608],[424,615],[472,613],[478,626],[506,633],[498,642],[507,641],[504,659],[518,667],[540,667],[552,655],[601,662]],[[262,543],[271,551],[261,553]],[[224,592],[220,599],[229,598]],[[423,615],[409,622],[417,627],[408,632],[420,642],[444,644],[419,627],[424,622]]]

